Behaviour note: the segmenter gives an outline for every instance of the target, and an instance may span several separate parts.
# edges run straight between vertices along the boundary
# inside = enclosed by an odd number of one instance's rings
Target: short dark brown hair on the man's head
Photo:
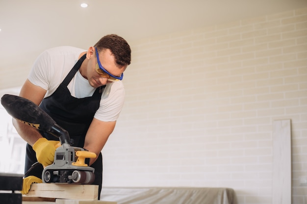
[[[97,47],[99,52],[103,49],[110,49],[117,64],[122,66],[130,65],[131,49],[124,38],[116,34],[106,35],[94,46]]]

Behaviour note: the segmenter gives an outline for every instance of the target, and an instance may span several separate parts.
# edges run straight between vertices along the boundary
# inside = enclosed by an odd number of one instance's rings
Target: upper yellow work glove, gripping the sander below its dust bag
[[[39,138],[33,145],[33,150],[36,153],[36,159],[43,166],[48,166],[53,163],[54,152],[59,141],[48,140],[45,137]]]

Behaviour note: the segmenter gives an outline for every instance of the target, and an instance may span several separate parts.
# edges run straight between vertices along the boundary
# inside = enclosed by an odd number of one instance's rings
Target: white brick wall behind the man
[[[291,119],[292,203],[307,204],[307,8],[131,45],[104,186],[223,186],[271,204],[272,122]]]

